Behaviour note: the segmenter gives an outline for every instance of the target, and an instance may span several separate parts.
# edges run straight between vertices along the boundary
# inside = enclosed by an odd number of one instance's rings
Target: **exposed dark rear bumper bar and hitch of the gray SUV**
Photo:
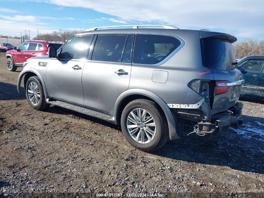
[[[211,122],[199,122],[199,133],[218,135],[221,131],[227,131],[230,126],[238,128],[243,123],[242,109],[243,104],[236,103],[227,111],[212,115]]]

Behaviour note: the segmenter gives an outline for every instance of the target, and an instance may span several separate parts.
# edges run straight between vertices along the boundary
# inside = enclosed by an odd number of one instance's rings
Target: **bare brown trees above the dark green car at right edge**
[[[233,44],[236,58],[245,56],[264,56],[264,40],[246,38]]]

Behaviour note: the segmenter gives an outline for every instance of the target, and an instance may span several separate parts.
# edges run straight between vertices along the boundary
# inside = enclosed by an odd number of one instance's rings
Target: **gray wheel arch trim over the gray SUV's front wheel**
[[[17,91],[20,92],[20,88],[21,88],[21,81],[22,78],[24,76],[24,89],[26,89],[26,84],[27,84],[27,80],[31,77],[31,76],[37,76],[40,81],[41,84],[43,86],[43,90],[44,90],[44,95],[45,98],[48,98],[48,93],[47,93],[47,88],[46,88],[46,84],[42,78],[42,76],[37,72],[37,70],[29,68],[27,70],[22,70],[22,72],[19,74],[18,79],[17,79]]]

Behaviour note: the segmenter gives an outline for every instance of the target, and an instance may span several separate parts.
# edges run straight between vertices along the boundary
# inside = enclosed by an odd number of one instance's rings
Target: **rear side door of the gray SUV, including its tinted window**
[[[129,86],[133,40],[133,35],[97,36],[82,73],[84,106],[113,113],[117,97]]]

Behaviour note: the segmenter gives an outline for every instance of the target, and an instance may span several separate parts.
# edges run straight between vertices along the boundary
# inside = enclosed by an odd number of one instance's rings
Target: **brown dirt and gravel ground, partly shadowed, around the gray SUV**
[[[5,61],[0,53],[0,197],[264,196],[263,98],[241,97],[239,129],[144,153],[118,126],[56,106],[32,109],[17,92],[22,68],[9,72]]]

